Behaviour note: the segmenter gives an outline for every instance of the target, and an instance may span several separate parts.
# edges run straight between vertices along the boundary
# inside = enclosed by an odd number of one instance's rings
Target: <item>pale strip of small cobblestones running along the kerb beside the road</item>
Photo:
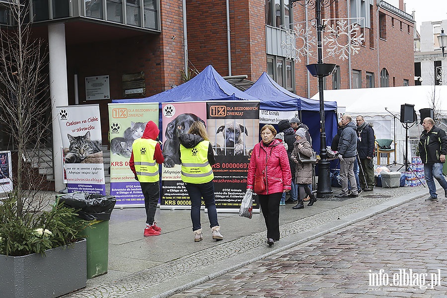
[[[414,188],[395,188],[386,189],[383,191],[377,190],[374,193],[359,197],[358,200],[355,200],[350,204],[330,209],[313,216],[291,222],[289,224],[282,224],[281,237],[284,238],[294,235],[298,236],[305,231],[311,230],[312,227],[332,223],[335,220],[334,224],[332,225],[334,227],[337,225],[337,219],[348,217],[362,210],[366,210],[373,206],[377,206],[378,204],[392,200],[396,196],[409,194],[414,191]],[[276,244],[275,246],[281,245],[280,242],[278,242],[278,244]],[[259,255],[263,255],[266,253],[264,251],[265,246],[265,231],[253,233],[249,236],[240,237],[234,241],[223,242],[219,243],[219,245],[202,249],[200,251],[200,258],[198,258],[196,254],[185,255],[167,263],[148,268],[147,270],[130,274],[111,283],[106,283],[93,288],[87,288],[81,291],[77,291],[66,297],[132,297],[137,293],[139,293],[139,295],[142,295],[142,297],[150,297],[151,295],[146,296],[146,294],[154,293],[155,289],[162,283],[172,281],[172,279],[178,278],[179,276],[186,276],[191,272],[202,274],[201,270],[203,270],[204,268],[214,268],[214,271],[216,272],[223,271],[225,270],[225,267],[229,266],[226,264],[230,263],[229,260],[231,258],[244,254],[248,255],[247,258],[244,258],[245,260],[247,260]],[[225,256],[225,259],[223,259],[222,256]],[[210,276],[210,273],[207,273],[206,275]],[[187,284],[188,282],[192,282],[193,280],[194,279],[185,281],[185,284]],[[289,281],[284,282],[289,283]],[[293,284],[295,284],[295,282],[293,282]],[[201,297],[207,297],[208,295],[209,294],[207,292],[205,296]]]

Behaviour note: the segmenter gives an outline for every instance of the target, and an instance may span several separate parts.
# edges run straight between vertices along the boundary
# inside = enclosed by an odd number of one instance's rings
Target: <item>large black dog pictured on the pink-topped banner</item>
[[[191,113],[180,114],[175,117],[174,120],[168,123],[166,132],[164,133],[166,139],[163,145],[165,167],[173,167],[175,164],[181,164],[178,156],[178,150],[180,146],[178,137],[183,134],[187,134],[189,128],[195,121],[201,121],[203,124],[205,124],[205,121]]]

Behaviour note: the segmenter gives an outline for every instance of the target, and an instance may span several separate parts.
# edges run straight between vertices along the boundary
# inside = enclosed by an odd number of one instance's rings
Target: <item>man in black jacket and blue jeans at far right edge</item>
[[[427,117],[422,122],[424,131],[419,141],[419,155],[424,163],[425,180],[429,188],[430,197],[426,201],[438,200],[435,179],[444,188],[447,198],[447,181],[443,176],[443,163],[446,161],[447,136],[446,132],[435,126],[432,118]]]

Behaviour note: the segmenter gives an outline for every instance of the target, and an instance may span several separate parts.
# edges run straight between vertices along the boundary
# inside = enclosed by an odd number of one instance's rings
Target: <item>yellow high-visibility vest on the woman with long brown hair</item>
[[[214,179],[213,168],[208,162],[209,145],[209,141],[202,141],[194,148],[180,145],[183,182],[201,184]]]

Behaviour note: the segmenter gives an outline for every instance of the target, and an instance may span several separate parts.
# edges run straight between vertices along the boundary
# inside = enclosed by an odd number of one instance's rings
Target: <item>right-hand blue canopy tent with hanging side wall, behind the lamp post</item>
[[[298,111],[302,123],[309,127],[312,147],[320,151],[320,103],[318,100],[301,97],[281,87],[267,73],[263,73],[247,90],[254,97],[260,98],[261,110]],[[337,134],[337,102],[324,102],[326,143],[330,145]]]

